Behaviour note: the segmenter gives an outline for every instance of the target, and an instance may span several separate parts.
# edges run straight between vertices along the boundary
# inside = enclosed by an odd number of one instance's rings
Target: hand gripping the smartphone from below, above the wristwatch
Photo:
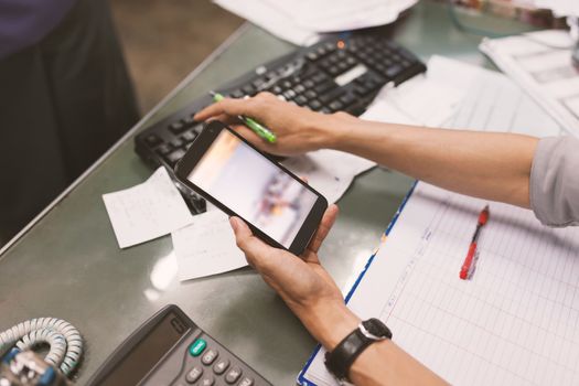
[[[240,218],[229,219],[237,246],[245,253],[247,261],[329,350],[360,322],[345,307],[340,289],[318,259],[318,250],[336,216],[337,206],[330,205],[301,258],[255,237]]]

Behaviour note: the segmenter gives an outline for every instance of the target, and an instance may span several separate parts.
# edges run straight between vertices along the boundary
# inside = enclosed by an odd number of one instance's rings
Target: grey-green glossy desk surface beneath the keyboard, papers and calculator
[[[476,22],[524,29],[490,17]],[[476,51],[480,37],[452,26],[439,3],[420,3],[398,22],[393,37],[423,60],[439,53],[485,63]],[[104,193],[132,186],[151,174],[132,150],[136,131],[292,49],[258,28],[243,26],[4,248],[0,329],[36,317],[69,321],[86,341],[77,374],[83,384],[142,321],[162,305],[176,303],[275,384],[293,384],[315,342],[259,276],[245,268],[179,282],[170,236],[119,249],[101,200]],[[347,287],[363,267],[411,182],[377,168],[358,178],[340,201],[340,218],[320,255],[341,287]]]

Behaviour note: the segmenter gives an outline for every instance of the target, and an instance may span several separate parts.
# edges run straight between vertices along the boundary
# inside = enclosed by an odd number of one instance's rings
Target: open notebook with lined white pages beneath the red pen
[[[471,280],[459,271],[479,213]],[[579,385],[579,228],[418,183],[349,307],[454,385]],[[320,350],[302,385],[335,385]]]

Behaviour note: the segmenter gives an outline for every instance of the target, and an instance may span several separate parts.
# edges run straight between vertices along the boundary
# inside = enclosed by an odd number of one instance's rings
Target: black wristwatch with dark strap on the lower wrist
[[[376,318],[368,319],[337,343],[332,352],[325,353],[325,367],[337,380],[347,382],[347,373],[356,357],[372,343],[385,339],[392,339],[392,332],[386,324]]]

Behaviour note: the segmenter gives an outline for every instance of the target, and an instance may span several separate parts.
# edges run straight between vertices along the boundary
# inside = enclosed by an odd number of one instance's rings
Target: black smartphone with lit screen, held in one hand
[[[300,255],[318,229],[328,201],[292,172],[218,120],[175,167],[178,180],[269,245]]]

